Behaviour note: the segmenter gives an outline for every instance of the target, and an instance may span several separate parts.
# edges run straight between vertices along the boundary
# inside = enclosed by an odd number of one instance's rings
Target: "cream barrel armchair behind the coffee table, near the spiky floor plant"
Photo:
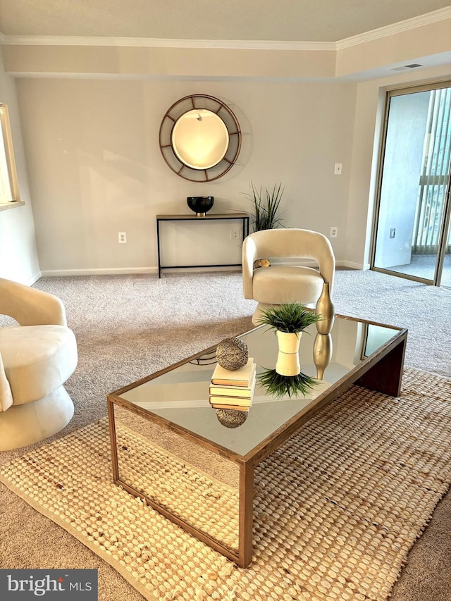
[[[313,259],[317,268],[297,264],[302,259],[304,263],[305,259]],[[266,306],[289,302],[316,304],[325,282],[329,283],[332,295],[334,275],[332,245],[319,232],[295,228],[261,230],[243,242],[244,296],[259,302],[252,316],[254,323],[258,323],[261,309]]]

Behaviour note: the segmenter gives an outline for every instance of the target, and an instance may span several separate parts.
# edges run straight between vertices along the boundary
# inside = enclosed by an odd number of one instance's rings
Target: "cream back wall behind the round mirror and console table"
[[[154,271],[156,213],[189,213],[194,195],[213,195],[218,211],[249,209],[251,181],[285,184],[285,225],[338,226],[335,254],[347,259],[354,82],[20,78],[17,87],[42,273]],[[225,101],[242,128],[238,162],[215,182],[183,180],[159,150],[165,111],[193,93]],[[343,175],[333,175],[337,162]],[[239,257],[230,225],[205,240],[177,227],[171,241],[187,261],[195,244],[209,262]]]

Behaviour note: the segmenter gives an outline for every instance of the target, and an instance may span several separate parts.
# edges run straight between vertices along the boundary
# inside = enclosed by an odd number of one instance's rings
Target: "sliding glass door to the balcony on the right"
[[[390,92],[372,268],[451,287],[451,82]]]

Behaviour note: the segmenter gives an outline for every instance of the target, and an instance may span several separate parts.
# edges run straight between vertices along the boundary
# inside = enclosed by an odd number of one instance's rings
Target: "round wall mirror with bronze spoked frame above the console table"
[[[240,154],[240,123],[218,98],[191,94],[166,111],[159,143],[163,159],[180,178],[211,182],[225,175]]]

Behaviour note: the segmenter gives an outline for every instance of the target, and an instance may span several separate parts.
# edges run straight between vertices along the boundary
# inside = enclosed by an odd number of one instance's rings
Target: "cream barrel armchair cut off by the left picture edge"
[[[63,383],[75,371],[77,343],[57,297],[0,278],[0,451],[55,434],[72,419]]]

